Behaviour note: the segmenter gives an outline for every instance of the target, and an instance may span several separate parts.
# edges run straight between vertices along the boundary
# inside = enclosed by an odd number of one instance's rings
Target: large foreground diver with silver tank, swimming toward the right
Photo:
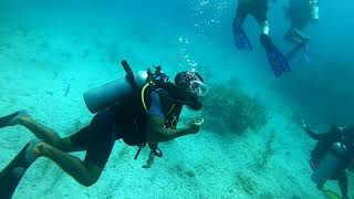
[[[90,125],[69,137],[61,138],[53,129],[35,122],[25,111],[0,117],[0,127],[21,125],[34,134],[19,155],[0,172],[0,198],[11,198],[25,170],[39,157],[53,160],[83,186],[95,184],[111,155],[115,140],[122,138],[129,146],[138,146],[137,158],[146,145],[162,157],[158,143],[197,134],[202,118],[192,119],[183,128],[177,123],[184,106],[198,111],[200,98],[208,92],[204,78],[196,71],[180,72],[175,83],[160,66],[133,73],[122,62],[126,76],[84,94],[91,113]],[[70,155],[86,151],[84,160]]]

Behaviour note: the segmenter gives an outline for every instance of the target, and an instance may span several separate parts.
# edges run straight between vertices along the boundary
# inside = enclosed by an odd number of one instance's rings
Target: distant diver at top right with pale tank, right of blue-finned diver
[[[290,21],[290,28],[284,35],[284,40],[295,44],[294,49],[287,55],[291,60],[300,50],[309,62],[308,43],[310,36],[304,35],[301,31],[309,23],[319,22],[319,1],[317,0],[289,0],[288,7],[283,7],[285,19]]]

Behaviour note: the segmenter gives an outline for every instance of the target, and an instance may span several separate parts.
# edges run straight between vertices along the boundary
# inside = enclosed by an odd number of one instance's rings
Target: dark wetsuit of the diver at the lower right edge
[[[331,132],[325,134],[316,134],[309,128],[305,128],[306,134],[312,137],[313,139],[317,140],[317,144],[315,145],[314,149],[311,153],[311,160],[310,166],[313,170],[315,170],[321,161],[322,158],[326,155],[327,151],[331,150],[331,147],[334,143],[343,143],[348,144],[343,140],[343,133],[339,128],[333,128]],[[353,154],[351,151],[354,151],[351,146],[352,144],[346,145],[348,146],[346,156],[344,157],[345,160],[343,161],[343,165],[340,167],[340,169],[330,178],[331,180],[339,180],[339,185],[341,188],[341,192],[343,196],[347,196],[347,176],[345,172],[345,169],[351,164],[351,156]]]

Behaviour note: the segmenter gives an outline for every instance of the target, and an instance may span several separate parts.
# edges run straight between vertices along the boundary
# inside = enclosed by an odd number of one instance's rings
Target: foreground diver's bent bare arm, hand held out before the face
[[[168,142],[188,134],[196,134],[200,130],[200,125],[198,124],[190,124],[189,126],[184,128],[170,129],[164,128],[164,119],[158,116],[148,116],[146,134],[146,139],[148,143]]]

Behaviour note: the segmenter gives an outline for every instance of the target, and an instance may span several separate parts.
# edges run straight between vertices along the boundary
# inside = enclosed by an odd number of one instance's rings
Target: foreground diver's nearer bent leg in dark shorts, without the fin
[[[91,186],[98,180],[115,143],[114,115],[100,112],[90,126],[64,139],[73,146],[86,148],[84,161],[44,142],[33,148],[33,154],[52,159],[77,182]]]

